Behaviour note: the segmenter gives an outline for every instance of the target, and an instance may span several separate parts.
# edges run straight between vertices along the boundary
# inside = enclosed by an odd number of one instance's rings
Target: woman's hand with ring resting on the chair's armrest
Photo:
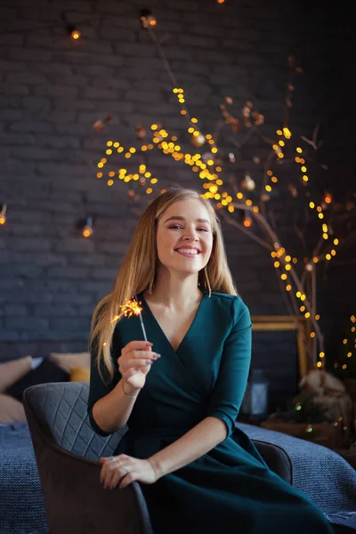
[[[133,481],[143,484],[153,484],[157,481],[157,474],[154,466],[149,460],[139,460],[125,454],[117,457],[99,458],[101,467],[101,484],[104,490],[113,490],[117,486],[125,488]]]

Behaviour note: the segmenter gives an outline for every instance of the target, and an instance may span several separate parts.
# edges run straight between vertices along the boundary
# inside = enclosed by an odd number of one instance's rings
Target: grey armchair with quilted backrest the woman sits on
[[[87,416],[89,384],[39,384],[23,394],[51,534],[153,534],[138,482],[104,490],[98,457],[109,457],[125,433],[95,433]],[[292,483],[292,464],[278,445],[254,440],[267,465]]]

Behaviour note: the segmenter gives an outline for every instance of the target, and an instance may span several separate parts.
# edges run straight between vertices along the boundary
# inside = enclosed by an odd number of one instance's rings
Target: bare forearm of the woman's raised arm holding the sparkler
[[[132,397],[139,394],[139,389],[133,389],[122,380],[105,397],[96,401],[93,405],[93,418],[95,423],[104,432],[117,432],[127,423],[134,408],[135,399]],[[126,394],[125,394],[126,393]],[[128,396],[130,395],[130,396]]]

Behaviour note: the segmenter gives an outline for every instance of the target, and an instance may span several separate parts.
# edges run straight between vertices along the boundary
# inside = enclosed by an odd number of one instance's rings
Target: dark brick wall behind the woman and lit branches
[[[218,105],[229,94],[239,105],[254,101],[266,117],[263,131],[272,134],[282,121],[289,53],[306,70],[292,111],[295,132],[311,134],[316,121],[328,125],[336,85],[328,93],[323,88],[336,61],[330,67],[325,44],[332,35],[333,49],[340,47],[341,30],[313,5],[150,2],[166,55],[205,131],[214,129]],[[8,203],[8,223],[0,228],[0,360],[86,348],[93,308],[111,287],[143,206],[127,198],[126,184],[108,188],[97,180],[95,164],[109,137],[134,143],[136,125],[162,121],[177,134],[185,128],[142,29],[142,7],[136,0],[3,0],[0,6],[0,202]],[[80,42],[65,35],[63,11],[83,31]],[[96,134],[93,121],[108,113],[113,122]],[[251,150],[263,147],[247,148],[244,157]],[[200,185],[187,167],[157,152],[150,166],[162,183],[169,176]],[[94,217],[92,239],[77,229],[87,215]],[[286,313],[268,253],[223,228],[251,312]],[[294,336],[256,333],[253,361],[267,369],[275,402],[294,391]]]

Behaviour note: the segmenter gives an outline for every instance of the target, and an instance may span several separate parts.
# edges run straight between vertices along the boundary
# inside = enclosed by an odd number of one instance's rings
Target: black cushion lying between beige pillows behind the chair
[[[69,373],[63,371],[51,360],[43,362],[35,369],[30,370],[27,375],[22,376],[15,384],[12,384],[6,392],[14,399],[22,401],[22,393],[30,385],[47,384],[50,382],[68,382]]]

